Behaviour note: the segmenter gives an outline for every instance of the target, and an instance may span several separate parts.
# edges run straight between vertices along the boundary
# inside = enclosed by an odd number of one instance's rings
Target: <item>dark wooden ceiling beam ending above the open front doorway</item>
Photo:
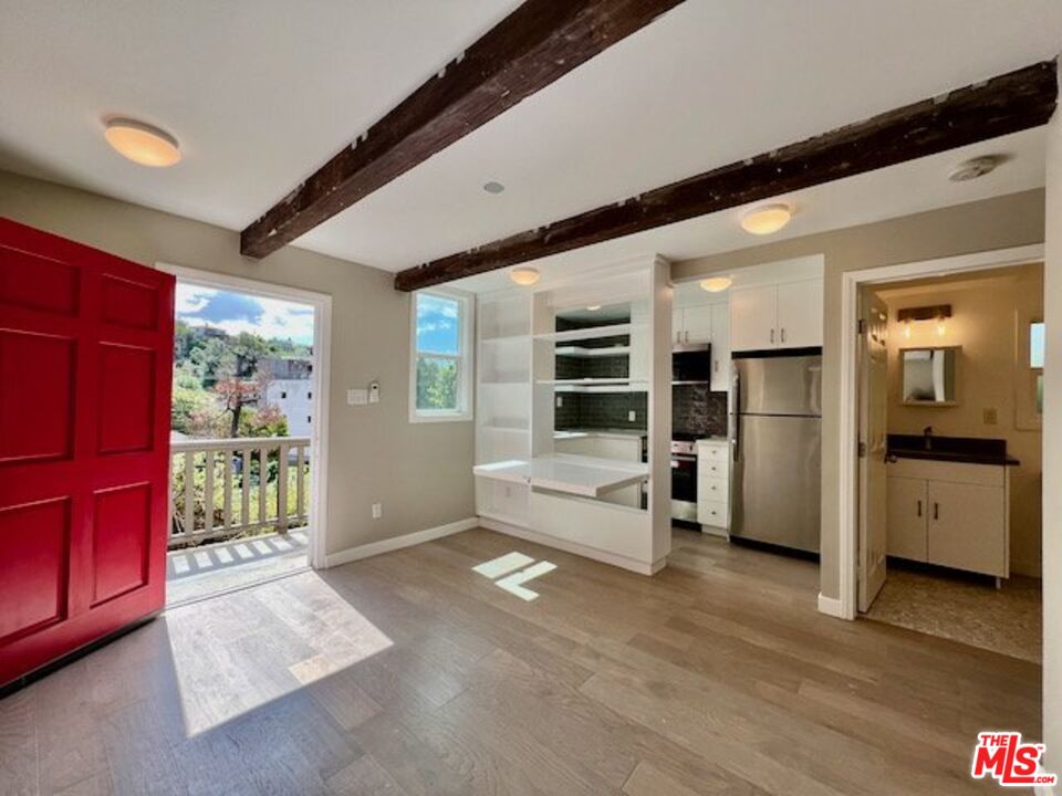
[[[240,233],[263,258],[649,24],[683,0],[525,0]]]

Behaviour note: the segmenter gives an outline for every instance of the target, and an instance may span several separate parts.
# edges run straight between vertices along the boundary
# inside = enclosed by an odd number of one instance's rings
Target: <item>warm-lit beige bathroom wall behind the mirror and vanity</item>
[[[922,433],[933,426],[946,437],[992,437],[1007,440],[1008,452],[1021,464],[1011,468],[1010,557],[1011,569],[1040,576],[1040,429],[1030,422],[1027,409],[1034,383],[1028,362],[1019,362],[1016,318],[1043,317],[1043,266],[1039,263],[992,272],[991,275],[957,276],[947,282],[905,286],[878,292],[888,304],[888,431]],[[952,316],[945,334],[934,322],[912,324],[910,337],[896,321],[902,307],[950,304]],[[902,395],[902,348],[961,346],[956,374],[955,407],[905,406]],[[1028,354],[1025,354],[1028,356]],[[1018,391],[1022,390],[1023,396]],[[1019,397],[1027,398],[1021,405]],[[986,423],[983,412],[995,409],[997,422]]]

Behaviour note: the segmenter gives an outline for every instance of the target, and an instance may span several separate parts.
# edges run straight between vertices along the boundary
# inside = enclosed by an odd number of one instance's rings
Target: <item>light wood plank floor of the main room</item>
[[[558,565],[523,601],[471,567]],[[0,702],[0,793],[961,794],[1040,668],[814,610],[676,533],[655,578],[471,531],[168,611]]]

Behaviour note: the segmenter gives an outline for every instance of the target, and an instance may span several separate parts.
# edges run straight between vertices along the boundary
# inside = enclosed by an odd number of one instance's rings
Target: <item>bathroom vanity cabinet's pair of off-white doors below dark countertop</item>
[[[996,464],[888,464],[888,554],[1010,576],[1010,476]]]

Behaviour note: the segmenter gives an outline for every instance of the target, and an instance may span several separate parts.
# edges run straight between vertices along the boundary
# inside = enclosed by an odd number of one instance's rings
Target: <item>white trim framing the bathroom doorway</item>
[[[819,597],[819,610],[823,614],[839,616],[842,619],[854,619],[857,603],[857,540],[858,521],[856,511],[857,467],[856,430],[858,429],[858,407],[856,406],[856,379],[858,370],[856,364],[856,332],[855,323],[858,313],[858,291],[863,285],[884,284],[916,279],[919,276],[966,273],[985,271],[988,269],[1006,268],[1008,265],[1024,265],[1033,262],[1043,262],[1044,247],[1041,243],[1012,249],[997,249],[995,251],[959,254],[957,256],[938,260],[922,260],[918,262],[900,263],[898,265],[883,265],[861,271],[846,271],[841,275],[841,379],[840,400],[841,410],[840,433],[840,503],[839,517],[841,525],[841,544],[839,555],[841,594],[840,610],[833,612],[824,608],[824,600],[832,598]],[[826,608],[832,608],[826,605]]]

